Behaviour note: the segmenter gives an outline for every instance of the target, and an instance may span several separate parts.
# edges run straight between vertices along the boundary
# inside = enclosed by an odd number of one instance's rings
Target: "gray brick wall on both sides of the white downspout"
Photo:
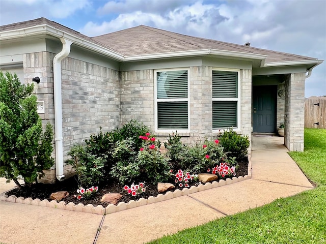
[[[53,57],[49,52],[23,55],[24,82],[40,77],[35,94],[44,101],[45,113],[40,114],[43,126],[49,121],[54,128]],[[62,68],[62,108],[64,160],[74,144],[81,143],[91,134],[110,131],[121,125],[120,114],[120,72],[98,65],[66,57]],[[53,148],[55,148],[53,140]],[[52,157],[55,158],[55,150]],[[56,179],[55,165],[44,170],[40,181],[53,182]],[[69,174],[71,166],[64,166]]]

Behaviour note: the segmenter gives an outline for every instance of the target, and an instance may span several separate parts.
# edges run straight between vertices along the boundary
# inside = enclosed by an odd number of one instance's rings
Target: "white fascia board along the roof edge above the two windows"
[[[238,57],[238,58],[259,59],[259,60],[265,60],[267,57],[266,55],[247,53],[247,52],[235,52],[235,51],[225,51],[225,50],[216,50],[216,49],[200,49],[200,50],[189,50],[189,51],[181,51],[181,52],[164,52],[164,53],[126,56],[124,58],[124,61],[137,61],[137,60],[169,58],[169,57],[201,56],[201,55],[208,55],[208,54],[216,55],[216,56]]]

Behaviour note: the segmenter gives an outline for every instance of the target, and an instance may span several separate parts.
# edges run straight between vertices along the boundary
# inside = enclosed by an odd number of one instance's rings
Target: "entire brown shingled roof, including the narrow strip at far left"
[[[66,32],[79,39],[94,43],[119,55],[121,54],[125,58],[146,54],[166,53],[167,56],[169,56],[168,53],[171,54],[173,52],[219,50],[265,55],[267,56],[265,63],[300,63],[307,60],[318,60],[317,58],[313,57],[271,51],[199,37],[186,36],[145,25],[124,29],[122,31],[109,33],[102,36],[88,37],[57,22],[48,20],[46,18],[38,18],[34,20],[0,26],[0,32],[10,32],[44,24]],[[162,57],[162,55],[160,56]]]

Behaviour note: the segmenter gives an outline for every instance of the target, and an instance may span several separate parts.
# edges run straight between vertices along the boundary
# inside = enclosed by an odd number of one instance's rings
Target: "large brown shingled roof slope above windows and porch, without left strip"
[[[317,59],[251,46],[186,36],[145,25],[93,37],[92,39],[117,50],[125,56],[215,49],[266,55],[266,63]]]

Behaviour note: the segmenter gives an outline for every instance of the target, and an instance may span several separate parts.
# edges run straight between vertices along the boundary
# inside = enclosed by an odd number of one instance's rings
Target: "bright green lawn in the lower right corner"
[[[305,129],[305,151],[290,156],[316,189],[149,243],[326,243],[326,130]]]

